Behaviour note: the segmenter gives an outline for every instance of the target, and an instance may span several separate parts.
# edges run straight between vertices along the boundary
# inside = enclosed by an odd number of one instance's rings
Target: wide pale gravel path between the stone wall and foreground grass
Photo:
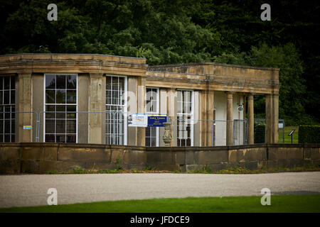
[[[320,172],[260,175],[98,174],[0,175],[0,207],[47,205],[49,188],[58,204],[187,196],[251,196],[262,188],[272,194],[320,194]]]

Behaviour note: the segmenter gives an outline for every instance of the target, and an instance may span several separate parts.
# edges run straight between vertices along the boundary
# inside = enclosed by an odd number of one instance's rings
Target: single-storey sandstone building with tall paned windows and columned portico
[[[277,143],[278,77],[279,69],[214,62],[149,66],[144,58],[112,55],[1,55],[0,141],[163,146],[163,128],[127,124],[128,113],[147,113],[170,116],[172,146],[254,143],[259,94],[266,97],[266,142]]]

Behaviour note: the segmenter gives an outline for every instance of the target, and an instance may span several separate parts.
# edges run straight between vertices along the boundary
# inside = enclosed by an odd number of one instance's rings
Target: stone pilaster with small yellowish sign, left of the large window
[[[18,111],[32,111],[32,83],[31,73],[18,74]],[[33,124],[33,114],[16,114],[18,117],[18,142],[32,142],[33,131],[36,132],[36,124]],[[32,126],[32,129],[24,129],[23,126]]]

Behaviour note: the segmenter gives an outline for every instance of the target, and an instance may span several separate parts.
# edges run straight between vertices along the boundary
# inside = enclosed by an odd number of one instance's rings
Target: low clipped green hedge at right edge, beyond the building
[[[320,143],[320,126],[299,126],[299,143]]]

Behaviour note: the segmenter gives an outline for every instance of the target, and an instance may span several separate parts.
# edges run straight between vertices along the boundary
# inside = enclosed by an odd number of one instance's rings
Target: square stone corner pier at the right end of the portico
[[[265,95],[265,143],[278,143],[279,94]]]

